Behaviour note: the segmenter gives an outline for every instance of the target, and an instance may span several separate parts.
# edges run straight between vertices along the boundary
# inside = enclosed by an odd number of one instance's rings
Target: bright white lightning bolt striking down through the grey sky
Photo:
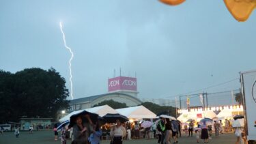
[[[71,61],[74,57],[74,53],[72,52],[72,49],[70,47],[68,47],[66,45],[66,37],[65,37],[65,33],[63,32],[63,29],[62,29],[62,23],[60,22],[59,23],[59,27],[61,28],[61,33],[63,35],[63,42],[64,42],[64,46],[68,49],[68,51],[70,51],[70,54],[71,54],[71,57],[70,57],[70,61],[69,61],[69,64],[70,64],[70,95],[71,95],[71,99],[73,100],[74,99],[74,96],[73,96],[73,83],[72,83],[72,64],[71,64]]]

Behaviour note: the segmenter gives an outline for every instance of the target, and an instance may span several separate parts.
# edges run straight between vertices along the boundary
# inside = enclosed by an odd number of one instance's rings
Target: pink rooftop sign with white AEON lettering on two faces
[[[137,91],[137,78],[119,76],[109,79],[109,91],[129,90]]]

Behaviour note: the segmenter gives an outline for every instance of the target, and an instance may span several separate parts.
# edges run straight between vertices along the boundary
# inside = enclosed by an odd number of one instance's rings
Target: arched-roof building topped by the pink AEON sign
[[[126,103],[127,106],[141,104],[141,100],[137,98],[137,93],[139,93],[137,91],[137,78],[125,76],[109,78],[108,87],[108,93],[70,100],[70,111],[88,109],[104,100]]]

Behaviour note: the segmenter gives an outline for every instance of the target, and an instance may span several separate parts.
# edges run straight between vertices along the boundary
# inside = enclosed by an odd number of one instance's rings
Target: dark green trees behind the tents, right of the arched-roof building
[[[173,106],[160,106],[158,104],[154,104],[152,102],[143,102],[141,105],[145,106],[145,108],[149,109],[153,113],[167,113],[171,116],[176,115],[176,109]]]

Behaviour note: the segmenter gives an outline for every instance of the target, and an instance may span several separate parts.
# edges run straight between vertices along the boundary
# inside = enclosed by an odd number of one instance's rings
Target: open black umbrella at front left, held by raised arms
[[[74,126],[74,124],[76,124],[76,117],[81,117],[83,123],[89,122],[89,121],[87,120],[87,118],[85,117],[85,115],[89,115],[89,117],[91,118],[91,121],[93,121],[94,123],[95,123],[96,121],[98,121],[98,114],[96,114],[96,113],[90,113],[90,112],[88,112],[88,111],[83,110],[83,111],[81,111],[81,112],[79,112],[79,113],[76,113],[76,114],[74,114],[74,115],[71,115],[71,117],[70,117],[70,124],[69,124],[68,128],[71,128],[72,126]]]

